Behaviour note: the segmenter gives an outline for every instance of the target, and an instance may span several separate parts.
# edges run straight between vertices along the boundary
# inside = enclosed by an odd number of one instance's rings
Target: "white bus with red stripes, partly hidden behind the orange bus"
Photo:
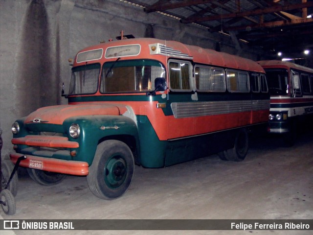
[[[282,134],[292,145],[300,123],[313,115],[313,69],[288,61],[258,62],[266,71],[270,93],[270,133]],[[303,125],[302,125],[303,126]]]

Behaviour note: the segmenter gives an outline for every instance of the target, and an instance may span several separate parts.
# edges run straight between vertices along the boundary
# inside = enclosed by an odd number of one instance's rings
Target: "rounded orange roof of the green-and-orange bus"
[[[98,48],[103,48],[103,51],[106,51],[108,47],[118,47],[125,45],[140,45],[140,54],[139,56],[144,56],[144,58],[148,58],[145,54],[150,55],[150,47],[151,45],[162,45],[165,48],[172,48],[174,51],[180,52],[179,55],[171,54],[169,57],[171,58],[186,58],[192,59],[195,63],[201,63],[211,66],[219,66],[226,67],[229,69],[238,69],[245,71],[255,71],[255,72],[263,72],[264,69],[257,64],[256,62],[242,58],[236,55],[231,55],[224,52],[218,52],[212,49],[206,49],[197,46],[185,45],[176,41],[167,41],[160,40],[154,38],[134,38],[134,39],[124,39],[118,41],[112,41],[107,43],[98,44],[95,46],[87,47],[81,50],[79,53],[95,50]],[[181,56],[183,54],[183,56]],[[151,58],[151,56],[149,56]]]

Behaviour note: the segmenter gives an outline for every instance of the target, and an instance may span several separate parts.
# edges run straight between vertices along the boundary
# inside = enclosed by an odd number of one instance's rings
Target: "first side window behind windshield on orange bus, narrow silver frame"
[[[191,91],[191,64],[185,61],[169,61],[170,89],[172,91]]]

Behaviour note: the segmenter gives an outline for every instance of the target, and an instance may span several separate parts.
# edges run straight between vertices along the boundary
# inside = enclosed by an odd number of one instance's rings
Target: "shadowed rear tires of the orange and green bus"
[[[248,148],[248,133],[246,129],[241,129],[236,134],[234,147],[220,152],[219,156],[224,161],[241,162],[246,158]]]

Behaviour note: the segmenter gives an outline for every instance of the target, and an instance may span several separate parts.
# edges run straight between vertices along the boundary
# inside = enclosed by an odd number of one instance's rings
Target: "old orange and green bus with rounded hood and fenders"
[[[42,185],[86,175],[99,198],[129,188],[134,164],[158,168],[213,153],[242,161],[266,130],[269,93],[256,62],[179,42],[124,39],[87,47],[72,65],[68,105],[12,126],[13,163]]]

